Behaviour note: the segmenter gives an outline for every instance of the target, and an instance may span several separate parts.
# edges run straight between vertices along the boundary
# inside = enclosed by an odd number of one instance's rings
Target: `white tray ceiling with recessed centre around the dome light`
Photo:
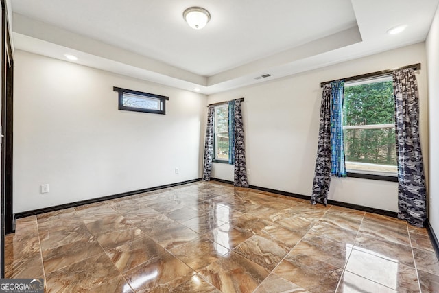
[[[202,93],[425,40],[439,0],[13,0],[17,49]],[[211,13],[203,30],[182,12]],[[406,24],[399,35],[386,31]],[[272,77],[255,80],[258,75]]]

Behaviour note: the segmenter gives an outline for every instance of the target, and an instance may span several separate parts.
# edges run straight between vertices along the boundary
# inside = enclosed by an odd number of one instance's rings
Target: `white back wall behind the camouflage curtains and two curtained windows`
[[[244,97],[243,115],[250,185],[311,195],[322,89],[320,82],[414,63],[425,67],[425,44],[324,67],[282,80],[209,95],[209,104]],[[417,75],[420,135],[428,158],[426,70]],[[233,180],[231,165],[213,163],[212,176]],[[329,199],[397,211],[396,183],[333,178]]]

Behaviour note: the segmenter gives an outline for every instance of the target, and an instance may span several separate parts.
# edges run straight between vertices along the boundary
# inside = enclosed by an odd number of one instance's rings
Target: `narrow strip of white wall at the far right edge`
[[[426,41],[429,93],[429,222],[439,237],[439,7]]]

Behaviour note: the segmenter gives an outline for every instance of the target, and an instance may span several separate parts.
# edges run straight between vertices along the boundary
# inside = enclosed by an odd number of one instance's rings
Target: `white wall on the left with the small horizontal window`
[[[15,65],[14,213],[202,176],[205,95],[19,50]],[[166,115],[117,110],[113,86],[169,96]]]

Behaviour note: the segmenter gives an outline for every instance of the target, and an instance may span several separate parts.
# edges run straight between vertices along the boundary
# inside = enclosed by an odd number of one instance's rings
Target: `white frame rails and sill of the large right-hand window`
[[[390,80],[389,80],[389,78],[390,78]],[[349,82],[346,82],[344,84],[344,87],[346,89],[346,87],[348,87],[348,86],[357,86],[357,85],[360,85],[360,84],[371,84],[371,83],[374,83],[374,82],[391,81],[391,78],[392,78],[392,75],[390,73],[390,74],[381,75],[381,76],[376,77],[376,78],[366,78],[366,79],[359,79],[359,80],[351,80]],[[346,96],[344,97],[344,99],[346,99]],[[395,127],[394,123],[393,124],[370,124],[370,125],[367,125],[367,126],[365,125],[364,127],[343,125],[343,130],[345,130],[345,129],[355,129],[355,128],[358,128],[358,129],[383,129],[383,128],[390,128],[390,125]],[[383,126],[383,127],[377,127],[377,126]],[[346,145],[345,145],[345,150],[346,150]],[[346,168],[346,176],[347,177],[370,179],[370,180],[390,181],[390,182],[397,182],[398,181],[398,170],[396,170],[396,173],[390,173],[390,172],[389,172],[389,174],[385,174],[385,173],[386,172],[379,172],[379,171],[365,172],[364,170],[347,169]]]

